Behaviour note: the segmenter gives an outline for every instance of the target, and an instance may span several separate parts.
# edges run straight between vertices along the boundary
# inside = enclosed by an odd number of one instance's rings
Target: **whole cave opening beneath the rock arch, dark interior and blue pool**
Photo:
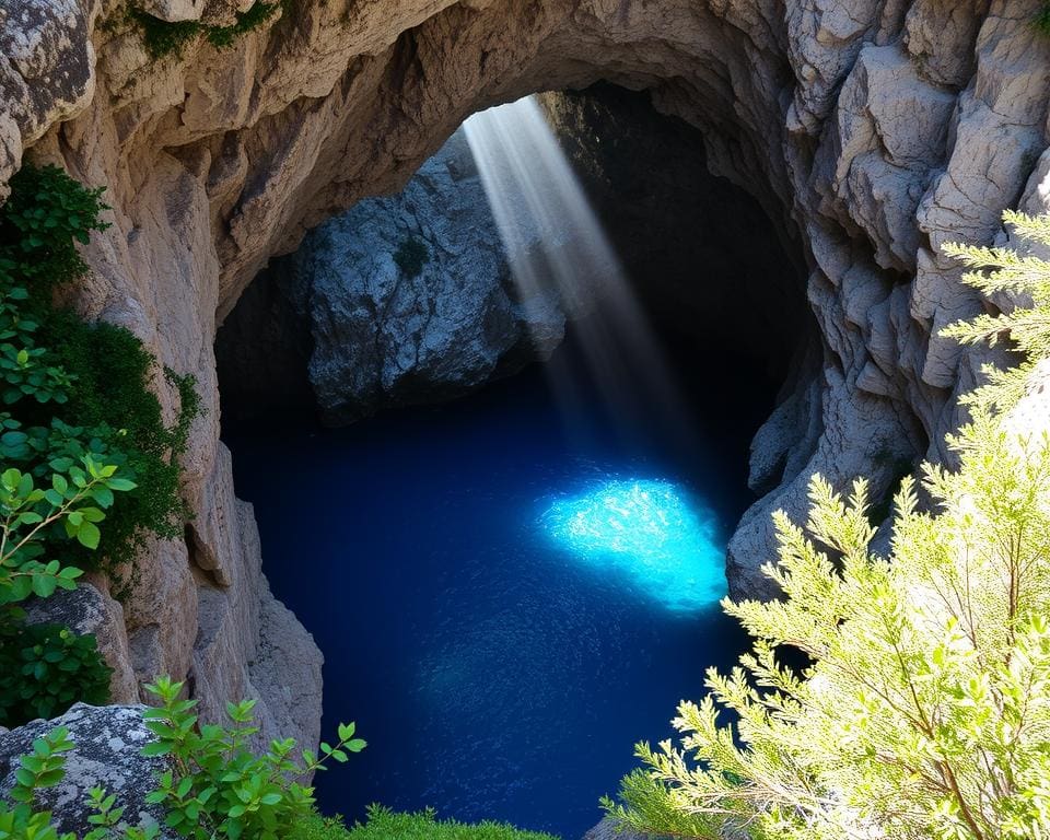
[[[673,411],[622,337],[595,374],[600,305],[529,318],[462,132],[277,260],[219,332],[237,493],[325,653],[325,733],[353,718],[371,745],[318,780],[351,819],[382,802],[579,836],[632,744],[742,648],[722,563],[749,441],[812,373],[802,260],[644,96],[539,102]]]

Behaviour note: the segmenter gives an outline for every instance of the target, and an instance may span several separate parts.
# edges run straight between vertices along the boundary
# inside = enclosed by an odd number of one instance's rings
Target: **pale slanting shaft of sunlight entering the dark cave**
[[[471,116],[464,131],[529,322],[560,305],[588,375],[625,425],[691,440],[681,400],[623,268],[532,96]],[[628,395],[643,385],[645,405]],[[571,415],[579,383],[552,381]]]

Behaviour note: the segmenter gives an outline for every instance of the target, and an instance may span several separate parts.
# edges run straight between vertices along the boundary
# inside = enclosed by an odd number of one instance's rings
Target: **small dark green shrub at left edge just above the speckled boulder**
[[[77,701],[106,703],[112,674],[94,635],[61,625],[0,625],[0,726],[51,718]]]

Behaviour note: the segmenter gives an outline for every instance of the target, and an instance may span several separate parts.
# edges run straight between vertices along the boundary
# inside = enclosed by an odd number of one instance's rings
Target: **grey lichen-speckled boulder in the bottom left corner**
[[[66,754],[66,778],[37,794],[42,809],[52,812],[60,832],[82,837],[93,828],[88,822],[88,792],[103,788],[117,797],[129,825],[156,824],[163,817],[145,796],[156,786],[156,774],[164,770],[163,758],[143,758],[142,747],[153,735],[142,722],[140,705],[93,707],[77,703],[61,718],[33,721],[0,734],[0,794],[14,784],[19,758],[33,751],[33,740],[65,726],[75,748]]]

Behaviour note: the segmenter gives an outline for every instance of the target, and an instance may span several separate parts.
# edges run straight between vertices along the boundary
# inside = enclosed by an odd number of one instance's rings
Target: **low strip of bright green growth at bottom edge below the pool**
[[[466,825],[439,821],[432,810],[395,814],[373,805],[364,825],[347,828],[341,820],[313,816],[290,840],[556,840],[551,835],[521,831],[502,822]]]

